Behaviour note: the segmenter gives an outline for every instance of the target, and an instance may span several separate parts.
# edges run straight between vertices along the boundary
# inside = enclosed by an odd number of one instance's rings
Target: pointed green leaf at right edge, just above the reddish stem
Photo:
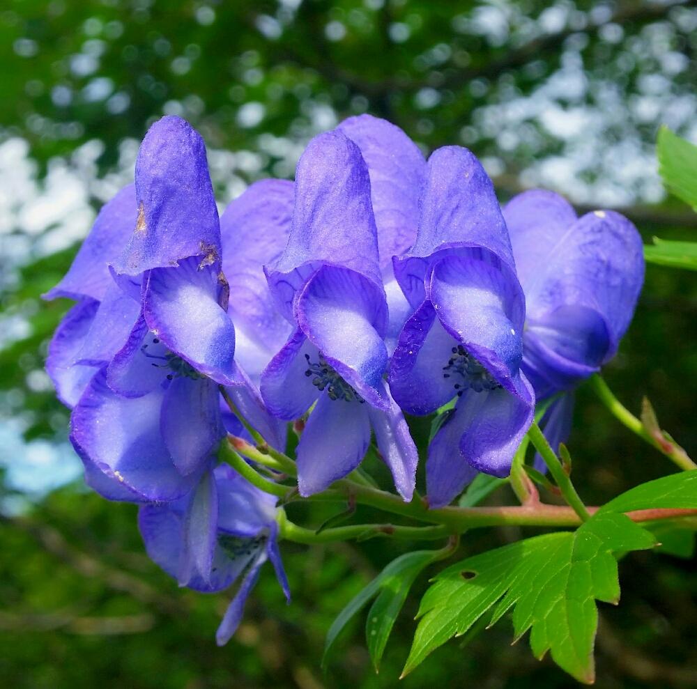
[[[697,509],[697,470],[642,483],[604,504],[598,513],[635,509]]]

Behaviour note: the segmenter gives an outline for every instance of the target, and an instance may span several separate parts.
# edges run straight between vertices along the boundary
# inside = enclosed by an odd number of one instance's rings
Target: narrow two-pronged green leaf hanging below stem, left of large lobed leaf
[[[434,561],[437,552],[437,550],[415,550],[397,557],[365,589],[349,601],[329,628],[324,642],[322,665],[326,664],[328,653],[346,624],[379,593],[378,600],[371,608],[366,628],[368,648],[373,663],[378,669],[385,644],[397,614],[404,605],[406,594],[420,571]],[[374,618],[376,618],[375,621],[372,621]]]

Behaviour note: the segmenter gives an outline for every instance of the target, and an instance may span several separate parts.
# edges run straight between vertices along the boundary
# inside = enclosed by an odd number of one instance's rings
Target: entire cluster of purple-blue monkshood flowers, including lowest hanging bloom
[[[288,595],[275,497],[216,466],[226,431],[245,434],[225,398],[279,450],[286,422],[307,419],[300,495],[355,470],[374,437],[406,501],[418,453],[404,412],[450,404],[426,461],[443,506],[477,472],[510,472],[536,398],[555,396],[545,431],[565,438],[571,391],[615,354],[642,281],[624,217],[577,218],[542,191],[502,210],[469,150],[424,160],[371,116],[312,139],[294,183],[257,182],[219,219],[201,137],[165,117],[135,187],[47,295],[77,302],[47,369],[86,482],[141,504],[152,559],[200,591],[243,579],[224,643],[266,559]]]

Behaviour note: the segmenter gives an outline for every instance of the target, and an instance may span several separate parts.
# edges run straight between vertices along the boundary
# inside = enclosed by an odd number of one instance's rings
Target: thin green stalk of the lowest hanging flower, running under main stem
[[[313,529],[305,529],[305,527],[298,526],[284,517],[279,518],[279,529],[282,538],[286,541],[307,543],[308,545],[350,541],[353,539],[365,540],[372,536],[392,536],[396,539],[408,539],[410,541],[431,541],[450,535],[450,531],[444,526],[410,527],[392,524],[355,524],[324,529],[318,533]]]

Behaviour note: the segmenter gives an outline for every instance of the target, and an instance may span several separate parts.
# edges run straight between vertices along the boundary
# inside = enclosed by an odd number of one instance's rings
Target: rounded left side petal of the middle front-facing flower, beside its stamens
[[[299,419],[319,396],[305,376],[306,355],[313,360],[319,357],[302,330],[296,330],[261,374],[261,396],[269,412],[279,419]]]

